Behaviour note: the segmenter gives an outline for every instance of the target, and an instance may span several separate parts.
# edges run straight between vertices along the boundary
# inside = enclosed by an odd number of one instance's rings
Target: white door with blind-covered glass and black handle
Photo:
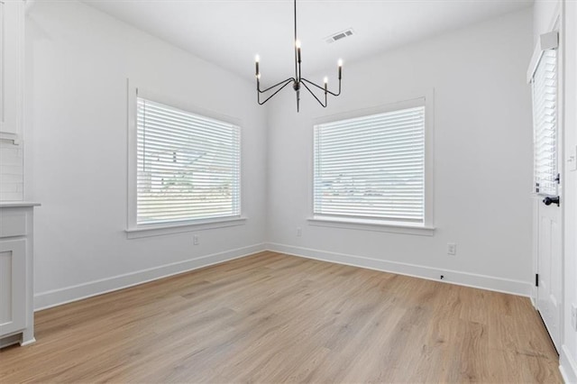
[[[557,350],[561,346],[562,217],[559,177],[558,51],[544,50],[533,76],[537,207],[537,309]]]

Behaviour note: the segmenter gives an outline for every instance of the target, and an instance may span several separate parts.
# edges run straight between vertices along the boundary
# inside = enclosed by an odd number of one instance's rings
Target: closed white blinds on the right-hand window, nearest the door
[[[425,106],[315,126],[314,214],[423,224]]]

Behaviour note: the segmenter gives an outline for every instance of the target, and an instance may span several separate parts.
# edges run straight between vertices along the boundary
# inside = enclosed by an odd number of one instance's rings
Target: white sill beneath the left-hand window
[[[243,225],[246,217],[224,218],[199,223],[181,224],[151,224],[142,225],[137,228],[128,228],[124,232],[128,239],[140,239],[142,237],[161,236],[164,234],[186,233],[194,231],[206,231],[208,229],[225,228],[229,226]]]

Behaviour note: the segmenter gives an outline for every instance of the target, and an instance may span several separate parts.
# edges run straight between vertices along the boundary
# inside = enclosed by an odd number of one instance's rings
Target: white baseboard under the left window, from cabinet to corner
[[[266,249],[267,247],[264,243],[254,244],[235,250],[209,254],[197,259],[179,261],[148,270],[138,270],[124,275],[114,276],[112,278],[99,279],[78,284],[76,286],[41,292],[34,295],[34,310],[39,311],[41,309],[50,308],[51,306],[60,306],[83,298],[102,295],[118,289],[133,287],[148,281],[178,275],[179,273],[187,272],[189,270],[197,270],[223,261],[238,259],[252,253],[265,251]]]

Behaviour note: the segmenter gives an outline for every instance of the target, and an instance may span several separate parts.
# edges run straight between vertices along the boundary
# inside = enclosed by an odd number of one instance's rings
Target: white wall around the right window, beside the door
[[[532,21],[526,9],[362,63],[345,62],[343,95],[330,99],[325,110],[307,95],[300,114],[292,93],[271,101],[271,247],[431,279],[444,274],[448,281],[529,295],[532,131],[525,74]],[[435,234],[308,224],[315,119],[431,88]],[[297,227],[302,237],[296,236]],[[456,256],[446,254],[447,242],[457,243]]]

